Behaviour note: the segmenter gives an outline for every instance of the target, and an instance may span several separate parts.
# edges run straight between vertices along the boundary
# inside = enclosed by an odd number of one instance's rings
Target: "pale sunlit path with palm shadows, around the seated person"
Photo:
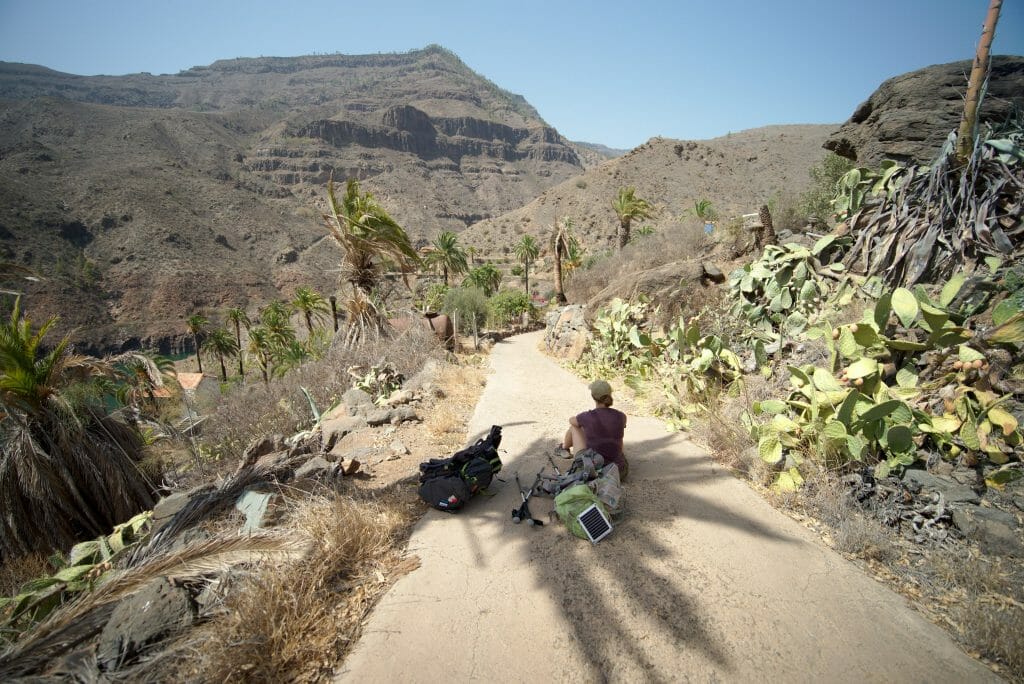
[[[997,681],[655,420],[630,420],[628,516],[609,538],[513,525],[513,474],[536,474],[592,405],[540,335],[496,346],[469,426],[504,425],[506,481],[418,524],[422,565],[375,608],[340,681]]]

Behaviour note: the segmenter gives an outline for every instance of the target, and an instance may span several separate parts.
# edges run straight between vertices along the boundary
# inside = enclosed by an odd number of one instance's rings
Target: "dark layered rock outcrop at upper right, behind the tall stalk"
[[[889,79],[860,104],[825,149],[876,167],[882,160],[928,164],[959,125],[971,61],[928,67]],[[981,121],[1024,112],[1024,57],[995,56]]]

